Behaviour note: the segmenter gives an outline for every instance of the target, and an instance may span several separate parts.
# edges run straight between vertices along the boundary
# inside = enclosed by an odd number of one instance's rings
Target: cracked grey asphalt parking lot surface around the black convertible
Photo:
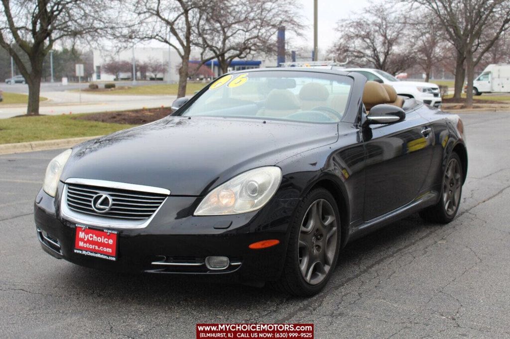
[[[456,220],[417,215],[342,252],[304,299],[269,289],[82,268],[44,253],[32,203],[60,151],[0,156],[0,337],[195,337],[199,323],[314,323],[316,337],[510,337],[510,114],[462,115]]]

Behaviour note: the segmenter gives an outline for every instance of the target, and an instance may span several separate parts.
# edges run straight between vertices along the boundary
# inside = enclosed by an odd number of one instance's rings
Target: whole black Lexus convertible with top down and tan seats
[[[416,212],[449,222],[461,202],[462,121],[358,73],[234,72],[172,106],[49,163],[47,253],[313,295],[348,241]]]

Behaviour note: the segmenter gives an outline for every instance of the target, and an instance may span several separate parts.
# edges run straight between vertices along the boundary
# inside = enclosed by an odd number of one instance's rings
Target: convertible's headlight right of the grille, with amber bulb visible
[[[202,200],[195,215],[240,214],[262,208],[282,182],[282,170],[276,166],[244,172],[219,185]]]

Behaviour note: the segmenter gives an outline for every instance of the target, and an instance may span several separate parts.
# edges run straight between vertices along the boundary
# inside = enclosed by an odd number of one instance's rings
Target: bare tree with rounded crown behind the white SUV
[[[413,52],[404,45],[406,22],[385,5],[367,7],[363,15],[338,23],[340,35],[330,54],[356,66],[371,66],[391,74],[414,64]]]

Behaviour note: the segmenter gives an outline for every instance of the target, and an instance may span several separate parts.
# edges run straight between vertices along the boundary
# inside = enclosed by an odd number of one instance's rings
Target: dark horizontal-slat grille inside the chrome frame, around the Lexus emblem
[[[111,208],[107,212],[100,213],[93,208],[92,200],[97,194],[111,197]],[[67,184],[66,201],[67,207],[75,212],[106,218],[145,220],[158,210],[166,197],[165,194],[151,192]]]

